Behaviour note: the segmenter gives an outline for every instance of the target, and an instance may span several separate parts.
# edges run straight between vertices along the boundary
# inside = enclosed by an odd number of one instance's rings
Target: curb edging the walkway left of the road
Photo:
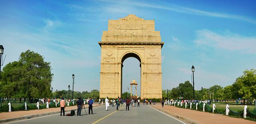
[[[97,106],[95,106],[95,107],[97,107]],[[88,107],[85,107],[85,108],[88,108]],[[76,109],[72,109],[72,110],[77,111],[77,108]],[[65,110],[65,113],[66,112],[67,113],[71,112],[71,110]],[[52,114],[59,114],[59,113],[60,113],[60,111],[56,111],[56,112],[48,112],[48,113],[42,113],[42,114],[27,115],[27,116],[22,116],[22,117],[18,117],[18,118],[8,118],[8,119],[0,120],[0,123],[11,122],[11,121],[14,121],[14,120],[30,119],[30,118],[46,116],[46,115],[52,115]]]

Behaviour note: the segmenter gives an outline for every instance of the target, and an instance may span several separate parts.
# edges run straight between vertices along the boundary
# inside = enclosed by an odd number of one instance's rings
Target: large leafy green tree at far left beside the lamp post
[[[3,96],[29,98],[29,101],[35,97],[50,97],[53,76],[50,62],[44,62],[43,56],[38,53],[30,50],[22,52],[18,61],[10,62],[3,68],[1,76],[0,88],[5,90],[1,90],[0,94]],[[10,88],[13,88],[12,94],[6,94]]]

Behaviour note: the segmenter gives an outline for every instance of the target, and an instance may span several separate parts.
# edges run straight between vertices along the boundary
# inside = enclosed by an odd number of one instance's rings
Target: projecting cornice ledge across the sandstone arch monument
[[[98,42],[100,45],[164,45],[164,42]]]

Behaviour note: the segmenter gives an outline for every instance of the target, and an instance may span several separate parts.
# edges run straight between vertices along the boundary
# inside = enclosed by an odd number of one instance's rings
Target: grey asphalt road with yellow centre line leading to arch
[[[88,109],[82,110],[82,116],[60,116],[60,114],[42,116],[20,120],[16,122],[8,122],[6,124],[184,124],[180,120],[172,118],[148,105],[140,107],[130,107],[129,111],[116,111],[116,106],[108,107],[98,106],[93,108],[94,114],[88,114]],[[67,114],[67,113],[65,113]]]

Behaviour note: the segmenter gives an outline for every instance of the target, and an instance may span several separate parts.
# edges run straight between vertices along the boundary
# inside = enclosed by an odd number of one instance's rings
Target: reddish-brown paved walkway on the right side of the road
[[[212,114],[174,106],[164,106],[164,108],[162,108],[161,104],[152,105],[152,107],[186,120],[187,122],[195,122],[195,124],[256,124],[254,121],[245,120],[243,118],[233,118],[223,114]]]

